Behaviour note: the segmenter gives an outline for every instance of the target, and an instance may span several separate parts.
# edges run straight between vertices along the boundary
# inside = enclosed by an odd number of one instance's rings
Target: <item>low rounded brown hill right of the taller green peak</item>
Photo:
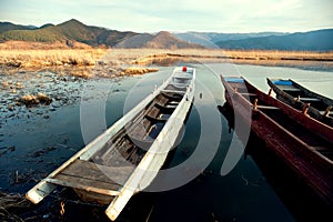
[[[202,49],[204,47],[189,43],[176,39],[167,31],[161,31],[155,36],[149,33],[137,34],[115,46],[117,48],[151,48],[151,49]]]

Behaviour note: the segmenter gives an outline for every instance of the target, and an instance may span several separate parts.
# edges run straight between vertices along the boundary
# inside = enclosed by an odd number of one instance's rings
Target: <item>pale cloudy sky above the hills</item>
[[[70,19],[135,32],[302,32],[333,28],[333,0],[0,0],[0,21]]]

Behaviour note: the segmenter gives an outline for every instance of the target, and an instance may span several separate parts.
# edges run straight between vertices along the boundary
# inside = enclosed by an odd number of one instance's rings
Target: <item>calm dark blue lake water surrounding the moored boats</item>
[[[256,148],[262,148],[262,144],[255,141],[248,144],[255,152],[242,154],[230,172],[221,173],[231,144],[239,153],[244,145],[229,130],[228,120],[216,109],[216,105],[224,103],[224,89],[219,74],[243,75],[265,92],[269,91],[265,78],[290,78],[333,98],[333,72],[230,63],[191,65],[196,68],[198,78],[194,104],[182,140],[178,149],[171,152],[163,168],[165,173],[158,179],[168,185],[153,183],[148,190],[154,192],[135,195],[119,221],[280,222],[302,221],[321,213],[316,208],[313,212],[306,212],[313,203],[306,204],[304,201],[316,201],[315,198],[306,188],[291,189],[295,185],[290,183],[299,184],[297,180],[293,181],[293,174],[272,153],[266,153],[265,149],[258,152],[260,149]],[[161,67],[159,72],[143,77],[83,81],[73,92],[82,95],[81,103],[79,99],[52,111],[50,107],[29,110],[22,107],[13,117],[1,114],[0,191],[27,192],[84,147],[84,142],[121,118],[171,71],[172,68]],[[185,181],[184,178],[191,173],[193,176]],[[155,192],[159,189],[161,192]],[[47,198],[33,209],[41,216],[37,219],[59,220],[58,213],[50,213],[59,211],[59,195]],[[68,200],[64,220],[108,221],[103,211],[104,208],[75,204]],[[34,214],[27,212],[21,216],[31,215]]]

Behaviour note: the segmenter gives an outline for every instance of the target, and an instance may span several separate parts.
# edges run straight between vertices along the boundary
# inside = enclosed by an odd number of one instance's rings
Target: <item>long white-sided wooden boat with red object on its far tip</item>
[[[194,80],[194,68],[175,68],[162,85],[39,182],[27,198],[39,203],[58,185],[68,186],[85,201],[109,204],[105,213],[115,220],[163,165],[192,105]]]

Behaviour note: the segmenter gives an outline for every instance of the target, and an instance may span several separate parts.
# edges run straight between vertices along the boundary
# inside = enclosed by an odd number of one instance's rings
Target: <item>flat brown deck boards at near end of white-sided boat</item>
[[[129,163],[130,164],[130,163]],[[105,167],[89,161],[77,160],[61,174],[80,176],[92,181],[123,184],[131,175],[134,167]],[[58,175],[56,176],[56,179]]]

